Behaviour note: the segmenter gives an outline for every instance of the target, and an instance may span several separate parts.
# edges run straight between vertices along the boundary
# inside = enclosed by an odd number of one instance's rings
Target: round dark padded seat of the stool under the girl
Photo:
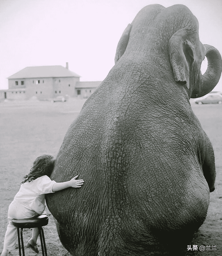
[[[49,217],[47,215],[40,215],[33,219],[17,220],[12,219],[12,224],[17,228],[32,229],[46,226],[49,223]]]

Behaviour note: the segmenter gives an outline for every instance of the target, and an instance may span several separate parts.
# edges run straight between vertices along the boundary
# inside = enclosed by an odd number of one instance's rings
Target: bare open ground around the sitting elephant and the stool
[[[0,252],[8,206],[19,190],[23,176],[29,172],[37,156],[43,153],[57,155],[69,125],[83,104],[84,100],[76,99],[55,103],[34,100],[0,102]],[[218,104],[191,106],[213,144],[217,177],[206,220],[191,243],[191,248],[197,245],[198,251],[189,250],[187,255],[219,256],[222,255],[222,108]],[[48,215],[49,224],[44,227],[48,256],[70,255],[61,245],[52,215],[49,212]],[[31,230],[26,229],[24,241],[27,242],[30,236]],[[37,243],[40,249],[40,241]],[[200,246],[205,246],[205,251],[199,251]],[[216,246],[216,250],[206,250],[207,246]],[[18,249],[11,253],[19,255]],[[26,256],[35,255],[29,248],[25,253]]]

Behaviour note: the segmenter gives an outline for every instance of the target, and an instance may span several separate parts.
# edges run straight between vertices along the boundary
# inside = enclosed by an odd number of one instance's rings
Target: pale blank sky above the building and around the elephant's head
[[[221,0],[0,0],[0,89],[25,67],[66,62],[80,81],[103,81],[122,32],[153,3],[186,5],[199,21],[200,41],[222,55]],[[222,79],[214,91],[222,91]]]

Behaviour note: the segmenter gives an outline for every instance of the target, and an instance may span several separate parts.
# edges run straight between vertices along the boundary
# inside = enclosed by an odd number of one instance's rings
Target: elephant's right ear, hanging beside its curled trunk
[[[177,82],[186,84],[190,88],[190,70],[194,62],[194,54],[188,32],[185,28],[174,33],[169,41],[169,55],[173,68],[174,78]]]

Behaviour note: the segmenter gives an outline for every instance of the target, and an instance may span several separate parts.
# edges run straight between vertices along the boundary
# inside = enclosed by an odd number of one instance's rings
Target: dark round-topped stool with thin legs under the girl
[[[32,228],[38,228],[39,229],[39,235],[41,240],[41,247],[42,247],[42,255],[47,256],[46,251],[46,245],[45,245],[45,236],[42,227],[46,226],[49,223],[49,217],[47,215],[40,215],[39,217],[36,217],[32,220],[17,220],[13,219],[12,224],[17,227],[18,232],[18,249],[19,249],[19,256],[22,256],[21,254],[21,245],[20,245],[20,235],[19,235],[19,228],[21,229],[21,242],[22,242],[22,253],[23,256],[25,256],[25,250],[24,250],[24,242],[23,242],[23,229],[32,229]]]

